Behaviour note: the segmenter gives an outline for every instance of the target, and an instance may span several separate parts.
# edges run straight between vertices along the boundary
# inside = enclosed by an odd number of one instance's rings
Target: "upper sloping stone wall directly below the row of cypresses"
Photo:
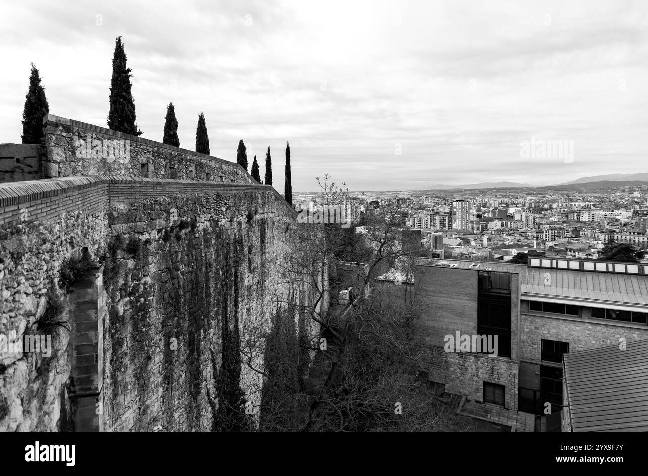
[[[253,183],[237,163],[52,114],[43,118],[44,178],[117,175]]]

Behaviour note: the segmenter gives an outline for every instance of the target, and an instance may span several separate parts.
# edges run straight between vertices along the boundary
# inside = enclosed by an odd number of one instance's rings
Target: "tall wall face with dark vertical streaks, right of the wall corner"
[[[269,329],[279,302],[303,299],[279,272],[294,216],[273,194],[246,192],[113,203],[110,223],[105,427],[209,431],[222,325],[244,341]],[[257,407],[260,374],[242,365],[240,387]]]

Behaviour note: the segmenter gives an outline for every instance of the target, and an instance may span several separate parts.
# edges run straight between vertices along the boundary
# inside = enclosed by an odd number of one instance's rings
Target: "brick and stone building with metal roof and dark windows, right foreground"
[[[465,396],[470,414],[518,431],[561,426],[563,354],[648,339],[648,265],[422,258],[415,282],[429,380]],[[469,345],[448,351],[448,339],[463,336]],[[496,356],[470,347],[488,336]]]

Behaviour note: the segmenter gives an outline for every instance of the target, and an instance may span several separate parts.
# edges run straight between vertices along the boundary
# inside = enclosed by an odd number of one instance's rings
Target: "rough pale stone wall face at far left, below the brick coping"
[[[86,247],[92,255],[104,254],[108,231],[105,214],[82,210],[62,212],[52,220],[3,223],[0,335],[49,334],[53,350],[49,357],[0,352],[0,431],[54,431],[65,425],[69,332],[47,323],[51,317],[69,322],[69,296],[58,287],[62,264]]]

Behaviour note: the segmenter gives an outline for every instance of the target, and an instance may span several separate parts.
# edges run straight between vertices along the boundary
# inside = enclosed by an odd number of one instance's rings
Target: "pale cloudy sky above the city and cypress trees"
[[[244,139],[263,176],[270,146],[281,191],[286,141],[294,190],[648,172],[646,1],[4,2],[0,142],[20,142],[32,61],[52,113],[106,126],[116,36],[143,137],[173,101],[193,150],[204,111],[212,155]]]

